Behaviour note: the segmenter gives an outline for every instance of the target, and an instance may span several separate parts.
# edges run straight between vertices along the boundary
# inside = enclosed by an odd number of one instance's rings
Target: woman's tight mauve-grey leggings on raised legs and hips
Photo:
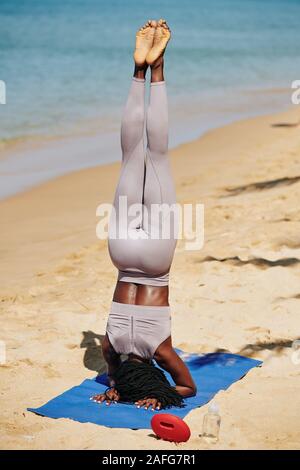
[[[177,241],[176,218],[172,213],[171,217],[162,216],[159,220],[150,213],[153,204],[176,203],[168,158],[168,102],[165,81],[150,84],[146,116],[146,152],[144,124],[145,80],[134,77],[122,117],[122,166],[114,198],[115,222],[122,234],[118,230],[114,232],[116,225],[111,219],[108,248],[112,262],[119,270],[118,280],[162,286],[168,285]],[[119,206],[121,199],[124,202],[122,196],[127,197],[127,209],[138,203],[143,204],[145,212],[128,214],[128,211],[122,211]],[[168,238],[162,236],[163,222],[169,224]],[[153,229],[156,229],[156,232],[153,232]],[[118,236],[112,236],[112,233],[117,233]],[[151,233],[159,233],[159,237],[153,238]]]

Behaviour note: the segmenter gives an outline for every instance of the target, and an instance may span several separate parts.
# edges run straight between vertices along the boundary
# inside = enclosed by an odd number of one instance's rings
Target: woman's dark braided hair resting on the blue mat
[[[183,399],[170,385],[165,374],[153,363],[124,361],[113,374],[121,401],[136,402],[156,398],[161,408],[183,407]]]

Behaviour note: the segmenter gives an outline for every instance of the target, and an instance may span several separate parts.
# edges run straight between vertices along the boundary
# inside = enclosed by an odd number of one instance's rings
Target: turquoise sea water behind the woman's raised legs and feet
[[[159,17],[173,33],[171,145],[290,106],[286,90],[300,78],[300,0],[1,0],[0,141],[85,130],[115,141],[135,31]],[[116,158],[111,149],[99,163]]]

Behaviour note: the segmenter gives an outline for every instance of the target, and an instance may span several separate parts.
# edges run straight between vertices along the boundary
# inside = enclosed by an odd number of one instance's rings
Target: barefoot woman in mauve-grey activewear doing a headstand
[[[172,216],[155,218],[153,207],[176,203],[168,161],[168,108],[164,52],[171,32],[164,20],[148,21],[136,35],[135,69],[121,125],[122,167],[114,209],[119,226],[110,222],[109,253],[119,275],[102,344],[110,389],[92,399],[107,404],[135,402],[159,410],[182,406],[196,393],[190,372],[172,347],[169,270],[176,246]],[[147,109],[147,149],[144,151],[145,78],[151,68]],[[141,204],[140,216],[121,210]],[[168,238],[162,236],[168,225]],[[121,232],[121,233],[120,233]],[[159,236],[153,236],[159,234]],[[124,236],[124,234],[126,236]],[[128,359],[121,361],[121,354]],[[171,387],[161,369],[169,372]]]

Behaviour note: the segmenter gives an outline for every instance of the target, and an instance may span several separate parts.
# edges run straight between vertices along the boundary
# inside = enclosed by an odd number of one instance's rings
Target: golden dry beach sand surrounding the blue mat
[[[109,429],[26,411],[103,371],[100,339],[116,279],[96,207],[119,164],[60,177],[0,203],[2,449],[300,448],[300,132],[275,126],[299,108],[233,123],[170,152],[180,202],[205,205],[205,244],[178,243],[171,271],[173,343],[262,359],[217,395],[220,439],[204,443],[207,406],[176,446],[150,430]],[[298,361],[299,362],[299,361]]]

